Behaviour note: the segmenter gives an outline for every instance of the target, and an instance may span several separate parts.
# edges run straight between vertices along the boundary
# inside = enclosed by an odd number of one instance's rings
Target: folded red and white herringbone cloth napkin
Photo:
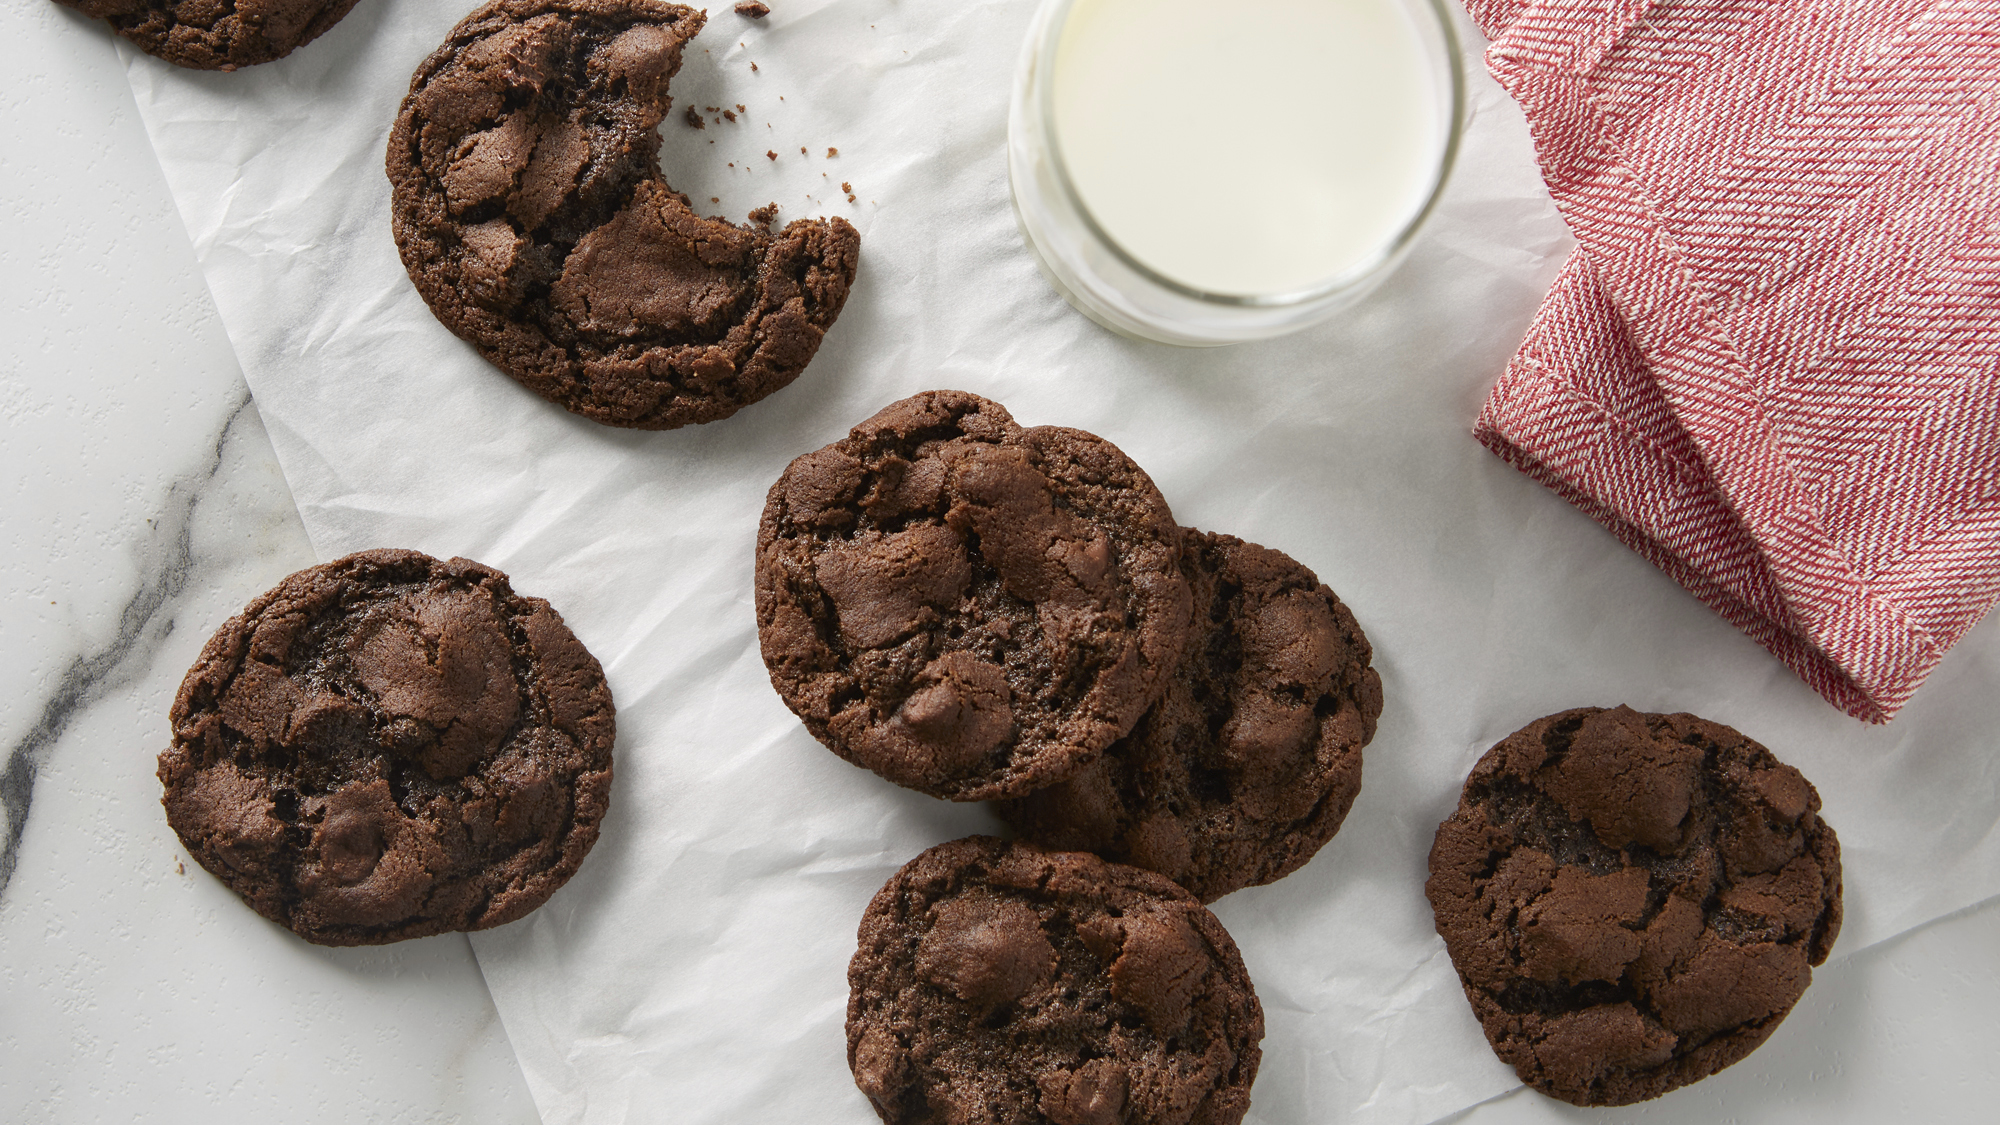
[[[1478,438],[1888,721],[2000,601],[2000,0],[1466,0],[1578,238]]]

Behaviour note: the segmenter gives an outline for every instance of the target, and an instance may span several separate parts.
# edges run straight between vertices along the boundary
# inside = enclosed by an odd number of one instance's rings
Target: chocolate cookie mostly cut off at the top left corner
[[[348,14],[354,0],[58,0],[104,20],[150,56],[192,70],[284,58]]]

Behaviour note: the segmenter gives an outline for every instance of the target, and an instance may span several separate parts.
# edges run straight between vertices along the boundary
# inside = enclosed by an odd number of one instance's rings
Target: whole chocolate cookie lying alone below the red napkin
[[[1818,813],[1694,715],[1586,707],[1486,751],[1424,891],[1494,1053],[1550,1097],[1630,1105],[1754,1051],[1840,931]]]

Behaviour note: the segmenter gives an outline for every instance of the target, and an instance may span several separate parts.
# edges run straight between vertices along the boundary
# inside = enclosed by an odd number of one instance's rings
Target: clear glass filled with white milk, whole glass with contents
[[[1042,272],[1114,332],[1294,332],[1396,264],[1458,150],[1442,0],[1044,0],[1008,114]]]

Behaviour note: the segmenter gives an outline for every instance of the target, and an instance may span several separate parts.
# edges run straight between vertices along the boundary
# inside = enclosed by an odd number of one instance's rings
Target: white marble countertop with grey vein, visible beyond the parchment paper
[[[10,4],[0,74],[0,1121],[532,1121],[464,937],[306,945],[168,831],[182,673],[316,558],[110,36]],[[1984,1121],[1996,951],[1988,901],[1836,959],[1690,1091],[1458,1119]]]

